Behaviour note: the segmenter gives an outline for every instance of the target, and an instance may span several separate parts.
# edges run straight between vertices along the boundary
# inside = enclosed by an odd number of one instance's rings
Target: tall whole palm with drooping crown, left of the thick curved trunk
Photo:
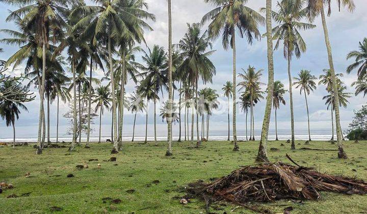
[[[205,3],[212,4],[215,9],[204,15],[201,23],[211,21],[209,24],[209,36],[218,39],[222,34],[224,49],[232,48],[233,54],[233,142],[234,151],[238,151],[237,129],[236,129],[236,45],[235,33],[239,32],[241,38],[246,37],[249,44],[253,39],[259,39],[260,33],[258,24],[264,24],[265,19],[256,11],[246,6],[248,0],[204,0]]]

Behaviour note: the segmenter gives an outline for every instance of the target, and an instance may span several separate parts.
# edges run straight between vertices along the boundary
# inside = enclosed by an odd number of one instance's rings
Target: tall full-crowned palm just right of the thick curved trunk
[[[294,133],[294,114],[293,114],[293,93],[292,93],[292,74],[291,61],[292,56],[301,57],[301,53],[306,51],[306,43],[301,37],[300,30],[315,28],[316,25],[304,23],[302,19],[307,15],[307,9],[304,8],[303,0],[282,0],[277,3],[279,12],[273,12],[273,19],[277,26],[273,29],[273,39],[276,40],[274,49],[278,49],[280,42],[283,42],[284,58],[288,62],[288,78],[291,108],[291,149],[296,149]]]

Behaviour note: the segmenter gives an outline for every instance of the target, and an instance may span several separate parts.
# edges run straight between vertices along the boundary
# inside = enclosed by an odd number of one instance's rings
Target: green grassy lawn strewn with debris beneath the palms
[[[281,146],[280,144],[285,146]],[[253,165],[258,142],[240,142],[240,152],[232,152],[229,142],[208,142],[199,149],[190,148],[190,143],[174,143],[172,157],[166,157],[166,145],[153,143],[124,144],[124,150],[111,155],[111,144],[92,144],[90,149],[76,148],[69,154],[66,148],[45,149],[36,155],[32,146],[12,149],[0,148],[0,181],[12,183],[14,188],[0,194],[0,213],[44,213],[50,207],[61,207],[61,212],[84,213],[199,213],[205,212],[204,203],[196,199],[187,205],[179,203],[185,193],[178,188],[189,182],[216,178],[229,174],[239,166]],[[300,144],[300,145],[298,145]],[[328,142],[312,141],[296,146],[336,149]],[[285,153],[298,164],[312,166],[329,174],[343,174],[367,179],[367,142],[344,142],[347,160],[339,160],[336,151],[291,151],[290,144],[283,141],[270,142],[268,154],[273,162],[290,163]],[[270,151],[270,148],[280,151]],[[106,162],[110,157],[116,162]],[[98,161],[89,162],[89,159]],[[89,165],[77,170],[76,165]],[[98,169],[97,164],[101,167]],[[25,174],[31,175],[26,178]],[[74,177],[67,178],[72,173]],[[158,180],[158,181],[155,181]],[[155,182],[153,182],[155,181]],[[135,190],[133,193],[128,190]],[[128,191],[128,192],[126,192]],[[21,196],[30,193],[29,196]],[[7,198],[16,194],[18,198]],[[21,196],[21,197],[20,197]],[[102,198],[121,199],[114,204]],[[278,201],[266,206],[274,212],[293,206],[292,213],[359,213],[367,211],[367,196],[347,196],[322,193],[319,201]],[[236,206],[228,203],[215,204],[212,212],[231,212]],[[232,213],[251,213],[237,208]]]

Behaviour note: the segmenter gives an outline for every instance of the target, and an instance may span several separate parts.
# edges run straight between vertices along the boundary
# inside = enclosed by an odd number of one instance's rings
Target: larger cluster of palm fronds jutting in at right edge
[[[348,53],[347,60],[355,58],[355,62],[348,66],[347,73],[358,68],[358,81],[367,77],[367,38],[363,42],[359,42],[359,50],[353,50]]]

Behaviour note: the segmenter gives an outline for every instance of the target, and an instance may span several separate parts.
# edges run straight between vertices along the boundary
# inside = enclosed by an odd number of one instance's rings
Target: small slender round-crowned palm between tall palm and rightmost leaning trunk
[[[293,83],[293,85],[296,86],[296,89],[300,89],[301,95],[303,92],[305,96],[308,121],[308,140],[311,141],[307,95],[309,95],[311,92],[313,92],[314,89],[316,89],[316,83],[314,81],[317,78],[314,75],[311,75],[311,71],[301,70],[301,72],[298,73],[298,77],[294,77],[294,79],[297,82]]]

